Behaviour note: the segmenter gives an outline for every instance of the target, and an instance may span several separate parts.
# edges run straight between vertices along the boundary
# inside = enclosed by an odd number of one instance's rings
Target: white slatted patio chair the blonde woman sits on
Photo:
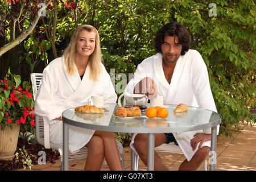
[[[33,95],[34,95],[34,101],[36,98],[36,94],[38,93],[39,86],[41,84],[41,80],[43,77],[42,73],[31,73],[31,82],[32,82],[32,89],[33,89]],[[35,113],[34,113],[35,114]],[[60,152],[61,156],[61,169],[63,167],[63,146],[55,143],[49,142],[49,123],[46,121],[43,121],[42,117],[39,117],[39,115],[35,115],[35,127],[36,127],[36,140],[38,143],[42,144],[46,148],[53,148],[55,150],[58,150]],[[124,165],[124,159],[123,159],[123,146],[121,142],[116,140],[119,154],[121,157],[122,167],[123,170],[125,169]],[[69,161],[73,160],[85,160],[87,158],[88,149],[86,147],[81,148],[80,151],[71,154],[69,153],[68,158]],[[105,161],[104,161],[105,162]]]

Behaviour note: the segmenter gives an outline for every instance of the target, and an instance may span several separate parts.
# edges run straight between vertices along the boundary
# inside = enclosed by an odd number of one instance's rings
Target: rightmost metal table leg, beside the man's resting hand
[[[212,127],[212,136],[210,138],[210,171],[215,171],[216,164],[216,146],[217,146],[217,126]]]

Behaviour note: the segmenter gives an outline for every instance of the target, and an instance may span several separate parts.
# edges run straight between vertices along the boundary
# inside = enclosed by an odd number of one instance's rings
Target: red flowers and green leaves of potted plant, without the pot
[[[34,101],[27,89],[28,82],[23,82],[22,89],[19,75],[9,73],[7,76],[11,79],[0,80],[0,129],[5,130],[6,126],[17,123],[20,130],[34,132],[35,114],[30,113],[34,110]]]

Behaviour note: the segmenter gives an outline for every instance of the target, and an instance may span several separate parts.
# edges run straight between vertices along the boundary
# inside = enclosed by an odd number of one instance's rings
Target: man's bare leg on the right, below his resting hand
[[[193,155],[192,159],[188,162],[188,160],[184,160],[182,164],[180,164],[179,171],[198,171],[201,166],[203,166],[205,159],[209,155],[210,148],[209,147],[201,147],[196,151],[195,155]]]

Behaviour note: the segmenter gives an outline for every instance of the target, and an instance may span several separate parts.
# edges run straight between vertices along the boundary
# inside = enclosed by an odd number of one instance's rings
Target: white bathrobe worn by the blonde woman
[[[102,72],[97,81],[90,79],[89,66],[82,80],[76,69],[74,75],[65,70],[64,57],[59,57],[47,65],[43,71],[42,84],[35,101],[35,113],[49,121],[50,142],[62,144],[62,112],[71,107],[85,105],[90,96],[100,94],[105,103],[115,103],[117,94],[110,76],[102,64]],[[69,151],[75,152],[89,142],[94,130],[69,126]]]

